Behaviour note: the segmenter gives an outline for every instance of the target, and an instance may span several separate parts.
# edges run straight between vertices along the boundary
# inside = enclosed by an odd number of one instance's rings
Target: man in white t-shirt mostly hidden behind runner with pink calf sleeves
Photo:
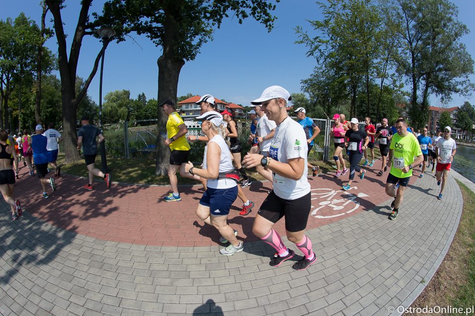
[[[259,116],[259,120],[256,126],[256,133],[254,135],[251,134],[249,138],[256,137],[259,144],[259,153],[268,157],[277,125],[276,122],[267,118],[260,105],[252,105],[252,107],[254,107],[254,111],[256,111],[256,114]],[[267,180],[272,181],[272,171],[265,170],[261,165],[256,166],[256,171]]]

